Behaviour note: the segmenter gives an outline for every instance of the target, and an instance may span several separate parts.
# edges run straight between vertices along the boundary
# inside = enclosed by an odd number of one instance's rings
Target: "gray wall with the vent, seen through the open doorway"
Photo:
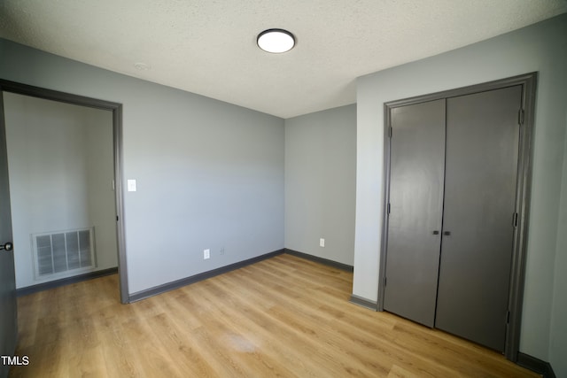
[[[4,93],[16,286],[38,277],[32,234],[95,228],[97,266],[118,265],[113,193],[112,113]]]

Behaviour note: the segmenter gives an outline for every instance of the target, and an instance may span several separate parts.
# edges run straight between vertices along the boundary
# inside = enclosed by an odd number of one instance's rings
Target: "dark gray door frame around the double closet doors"
[[[506,329],[506,345],[504,354],[507,359],[517,362],[520,347],[520,331],[522,320],[522,304],[524,299],[525,261],[527,254],[527,235],[529,228],[530,197],[532,184],[533,127],[535,112],[535,96],[538,73],[525,73],[502,79],[489,81],[470,87],[450,89],[424,96],[384,103],[384,190],[383,205],[387,209],[390,202],[390,130],[391,110],[409,104],[419,104],[442,98],[470,95],[493,89],[502,89],[517,85],[522,86],[522,109],[518,109],[520,138],[517,167],[516,209],[517,228],[514,231],[514,246],[509,290],[509,322]],[[384,311],[384,276],[386,265],[386,249],[388,246],[388,213],[384,211],[382,223],[382,243],[380,247],[380,271],[378,280],[378,311]]]

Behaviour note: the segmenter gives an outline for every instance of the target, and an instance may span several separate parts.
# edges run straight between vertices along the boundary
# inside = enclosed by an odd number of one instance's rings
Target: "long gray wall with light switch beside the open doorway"
[[[1,39],[0,56],[5,80],[123,104],[130,294],[283,248],[282,119]]]

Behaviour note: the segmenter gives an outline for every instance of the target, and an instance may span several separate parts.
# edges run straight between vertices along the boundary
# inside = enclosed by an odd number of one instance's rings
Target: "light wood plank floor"
[[[19,298],[11,377],[524,377],[473,343],[348,302],[353,274],[280,255],[131,305],[116,275]]]

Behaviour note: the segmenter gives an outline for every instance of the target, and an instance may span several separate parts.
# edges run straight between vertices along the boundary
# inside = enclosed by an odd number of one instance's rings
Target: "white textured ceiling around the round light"
[[[282,118],[366,73],[567,12],[566,0],[0,0],[0,37]],[[296,47],[268,54],[264,29]]]

